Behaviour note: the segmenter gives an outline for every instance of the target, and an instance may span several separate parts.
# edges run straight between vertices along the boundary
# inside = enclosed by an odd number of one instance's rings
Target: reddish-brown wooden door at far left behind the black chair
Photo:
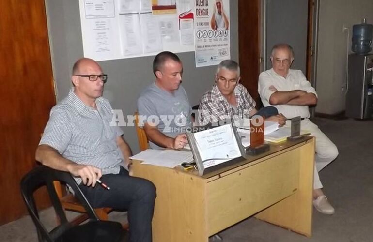
[[[0,0],[0,225],[27,214],[20,180],[55,105],[44,0]],[[45,191],[38,203],[48,204]]]

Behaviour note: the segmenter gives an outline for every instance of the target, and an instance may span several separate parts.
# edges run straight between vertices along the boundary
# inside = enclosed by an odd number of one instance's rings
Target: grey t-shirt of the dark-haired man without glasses
[[[170,93],[152,83],[140,93],[137,109],[140,126],[145,122],[158,123],[158,130],[169,137],[176,137],[192,127],[192,108],[181,85]],[[152,149],[163,149],[153,142],[149,145]]]

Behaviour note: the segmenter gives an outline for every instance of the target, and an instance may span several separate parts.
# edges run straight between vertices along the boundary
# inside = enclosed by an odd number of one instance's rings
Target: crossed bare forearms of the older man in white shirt
[[[275,91],[269,98],[269,104],[271,105],[309,106],[317,104],[317,97],[311,92],[303,90],[278,91],[273,85],[269,87],[269,90]]]

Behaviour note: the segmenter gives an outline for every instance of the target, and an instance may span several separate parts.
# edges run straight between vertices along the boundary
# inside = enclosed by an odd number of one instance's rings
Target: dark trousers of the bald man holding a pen
[[[92,207],[128,211],[130,242],[151,242],[154,184],[142,178],[129,176],[122,166],[119,174],[103,175],[100,180],[107,184],[110,190],[106,190],[98,183],[94,187],[87,187],[83,183],[79,185]]]

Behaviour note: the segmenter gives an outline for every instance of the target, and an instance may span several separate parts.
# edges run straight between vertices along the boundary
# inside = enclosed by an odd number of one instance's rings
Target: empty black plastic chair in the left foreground
[[[75,196],[87,211],[89,220],[85,224],[73,225],[67,221],[62,209],[60,199],[53,186],[53,181],[62,181],[68,184],[74,191]],[[61,224],[47,231],[39,219],[34,191],[39,187],[47,186],[47,191],[54,210]],[[125,242],[126,231],[118,222],[101,221],[98,219],[92,206],[84,197],[77,182],[70,173],[51,169],[47,166],[38,166],[26,174],[21,181],[21,193],[25,200],[27,209],[36,226],[40,242]]]

